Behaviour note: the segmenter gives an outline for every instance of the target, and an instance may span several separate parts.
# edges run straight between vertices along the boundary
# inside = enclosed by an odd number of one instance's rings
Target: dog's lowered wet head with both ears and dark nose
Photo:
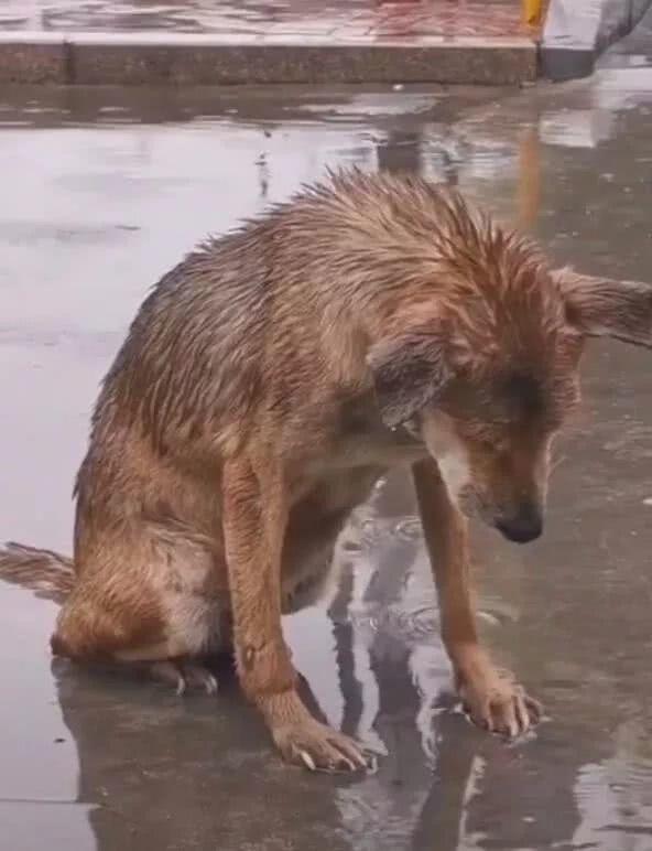
[[[413,423],[460,509],[526,542],[542,531],[584,343],[652,346],[652,287],[551,272],[518,251],[477,271],[399,316],[369,364],[385,423]]]

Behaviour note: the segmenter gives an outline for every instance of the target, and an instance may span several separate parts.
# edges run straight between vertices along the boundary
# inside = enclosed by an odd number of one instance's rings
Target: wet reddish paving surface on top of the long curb
[[[523,35],[521,0],[379,2],[378,0],[6,0],[0,30],[409,37]]]

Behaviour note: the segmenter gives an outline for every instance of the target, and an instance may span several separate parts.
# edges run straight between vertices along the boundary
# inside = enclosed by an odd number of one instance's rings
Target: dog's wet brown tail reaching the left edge
[[[61,605],[75,584],[75,569],[65,556],[10,542],[0,548],[0,580]]]

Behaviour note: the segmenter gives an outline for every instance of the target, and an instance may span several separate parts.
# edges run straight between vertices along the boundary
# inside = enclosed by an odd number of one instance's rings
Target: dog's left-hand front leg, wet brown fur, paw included
[[[253,470],[246,459],[224,471],[224,529],[238,675],[283,756],[311,769],[357,769],[367,755],[317,722],[296,691],[297,675],[281,627],[281,557],[287,495],[280,465]]]

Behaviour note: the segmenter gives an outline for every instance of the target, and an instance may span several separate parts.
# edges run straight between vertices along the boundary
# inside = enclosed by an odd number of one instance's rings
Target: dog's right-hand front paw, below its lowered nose
[[[541,719],[541,703],[526,694],[509,671],[497,670],[489,661],[466,672],[459,696],[475,724],[510,739],[525,733]]]

